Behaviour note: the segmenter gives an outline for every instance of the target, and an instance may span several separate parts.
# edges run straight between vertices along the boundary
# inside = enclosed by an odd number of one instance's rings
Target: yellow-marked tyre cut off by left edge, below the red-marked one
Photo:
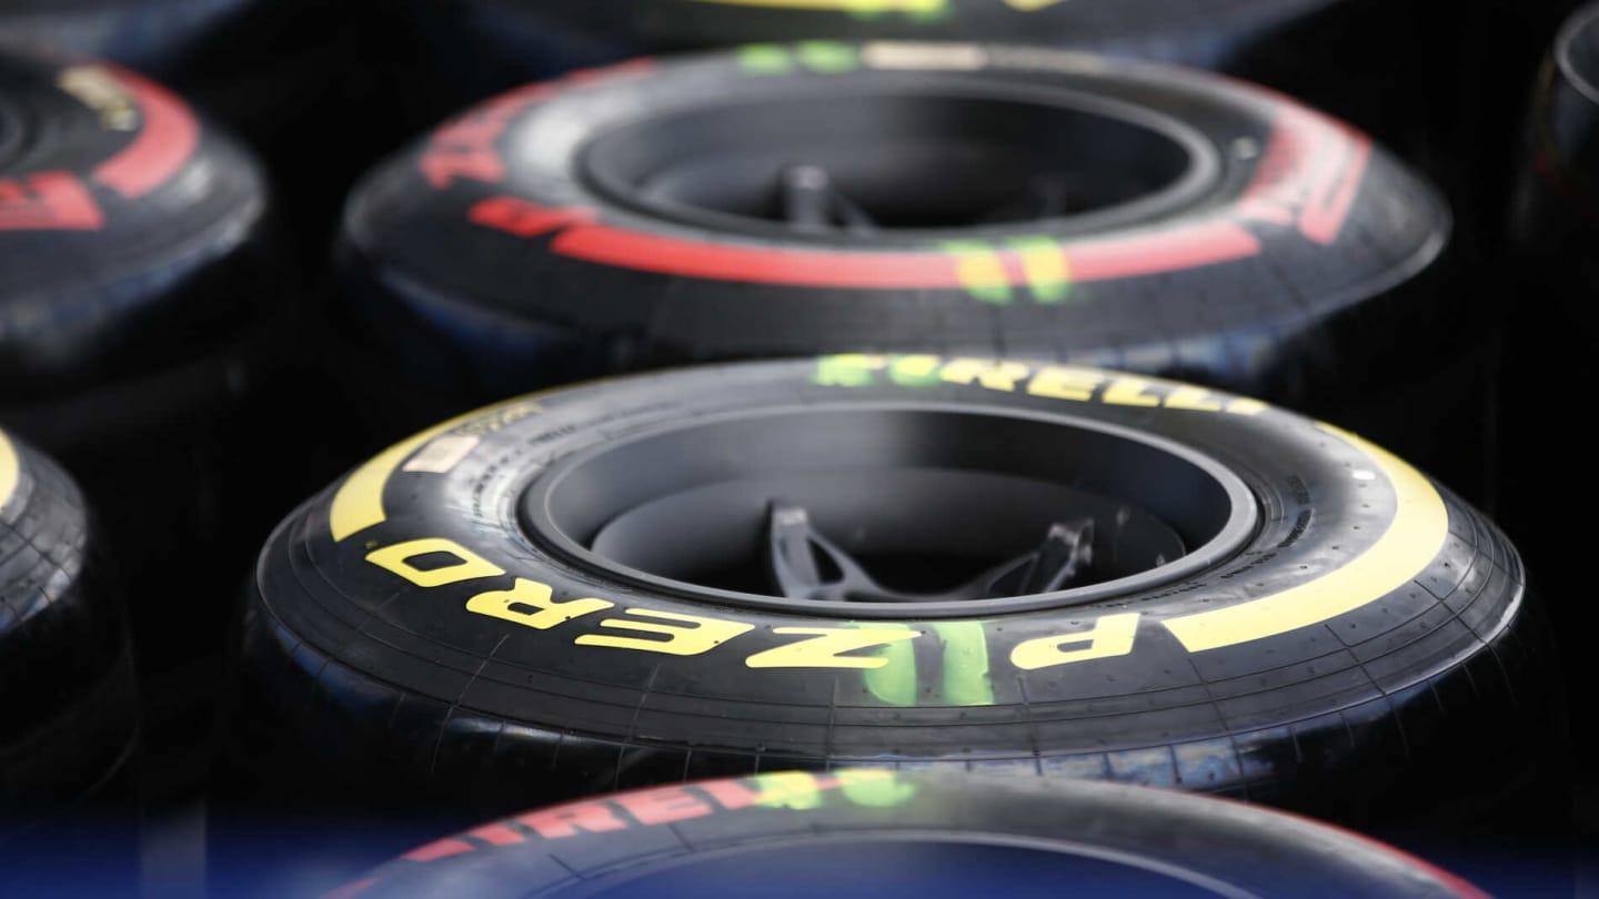
[[[22,893],[48,877],[24,848],[96,846],[85,883],[133,894],[139,715],[106,565],[72,480],[0,432],[0,864]]]

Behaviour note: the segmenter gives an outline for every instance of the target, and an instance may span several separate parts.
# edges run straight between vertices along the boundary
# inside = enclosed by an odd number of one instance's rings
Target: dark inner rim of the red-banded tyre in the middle
[[[1091,232],[1148,221],[1217,182],[1186,125],[1027,85],[820,94],[680,110],[604,133],[590,189],[692,226],[822,240]],[[900,232],[900,234],[897,234]]]

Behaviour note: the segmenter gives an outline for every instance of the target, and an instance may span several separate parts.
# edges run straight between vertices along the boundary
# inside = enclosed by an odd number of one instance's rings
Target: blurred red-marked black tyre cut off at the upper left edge
[[[0,66],[6,405],[169,366],[261,312],[240,270],[267,198],[243,149],[125,69]]]

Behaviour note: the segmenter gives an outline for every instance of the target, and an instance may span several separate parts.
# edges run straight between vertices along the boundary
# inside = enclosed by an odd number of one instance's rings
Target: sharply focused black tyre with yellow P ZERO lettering
[[[1482,515],[1338,429],[1087,368],[515,400],[309,501],[248,603],[230,755],[269,798],[489,813],[887,763],[1493,829],[1559,757]]]

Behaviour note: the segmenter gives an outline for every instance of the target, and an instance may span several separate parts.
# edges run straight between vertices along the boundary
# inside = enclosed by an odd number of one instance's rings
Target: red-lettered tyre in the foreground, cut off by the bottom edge
[[[1346,830],[1167,790],[969,774],[776,773],[640,790],[421,846],[329,893],[1485,899]]]

